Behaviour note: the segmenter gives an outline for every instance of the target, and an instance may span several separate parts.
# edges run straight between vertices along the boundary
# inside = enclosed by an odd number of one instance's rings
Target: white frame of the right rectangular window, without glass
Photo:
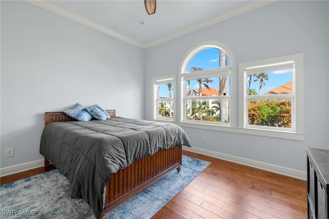
[[[269,127],[248,124],[248,99],[254,96],[247,95],[247,75],[257,72],[275,71],[283,69],[293,69],[293,93],[291,95],[268,95],[268,98],[286,97],[291,98],[291,129],[282,127]],[[246,62],[239,64],[239,127],[252,130],[255,135],[262,135],[264,131],[276,132],[276,136],[283,133],[289,139],[302,140],[304,130],[304,69],[303,69],[303,53],[291,54],[288,56]],[[264,99],[264,95],[255,96]],[[267,96],[266,96],[267,98]],[[287,134],[297,134],[298,136],[290,136]],[[274,134],[273,134],[274,135]]]

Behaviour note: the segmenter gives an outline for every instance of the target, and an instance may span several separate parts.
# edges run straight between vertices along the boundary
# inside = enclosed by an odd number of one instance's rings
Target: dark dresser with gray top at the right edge
[[[306,148],[308,218],[328,219],[329,150]]]

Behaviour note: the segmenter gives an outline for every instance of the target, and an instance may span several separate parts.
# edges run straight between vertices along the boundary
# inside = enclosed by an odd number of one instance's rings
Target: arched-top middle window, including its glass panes
[[[181,65],[181,121],[230,124],[231,60],[218,44],[193,48]]]

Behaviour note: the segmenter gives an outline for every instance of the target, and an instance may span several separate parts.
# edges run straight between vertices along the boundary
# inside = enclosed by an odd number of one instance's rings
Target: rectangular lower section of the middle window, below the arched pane
[[[181,74],[184,119],[196,123],[229,125],[230,67]]]

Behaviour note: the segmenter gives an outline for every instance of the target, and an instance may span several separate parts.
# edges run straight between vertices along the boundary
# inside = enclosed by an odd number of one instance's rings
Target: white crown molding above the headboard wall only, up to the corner
[[[31,3],[33,5],[39,6],[41,8],[47,9],[47,10],[49,10],[51,12],[57,13],[59,15],[62,15],[64,17],[67,17],[68,19],[71,19],[71,20],[76,21],[76,22],[78,22],[80,24],[86,25],[86,26],[88,26],[90,28],[93,28],[93,29],[96,29],[96,30],[101,31],[103,33],[106,33],[108,35],[114,36],[115,38],[118,38],[118,39],[120,39],[122,41],[125,41],[127,43],[130,43],[130,44],[133,44],[133,45],[138,46],[140,48],[144,48],[145,47],[144,44],[142,44],[142,43],[140,43],[140,42],[138,42],[136,40],[133,40],[133,39],[131,39],[131,38],[129,38],[129,37],[123,35],[123,34],[120,34],[120,33],[116,32],[116,31],[113,31],[111,29],[108,29],[108,28],[106,28],[106,27],[104,27],[104,26],[102,26],[102,25],[100,25],[100,24],[98,24],[96,22],[90,21],[90,20],[86,19],[83,16],[80,16],[80,15],[75,14],[75,13],[73,13],[71,11],[68,11],[68,10],[66,10],[64,8],[61,8],[61,7],[57,6],[57,5],[54,5],[54,4],[50,3],[50,2],[47,2],[46,0],[40,0],[40,1],[25,0],[25,1],[26,2],[29,2],[29,3]]]

